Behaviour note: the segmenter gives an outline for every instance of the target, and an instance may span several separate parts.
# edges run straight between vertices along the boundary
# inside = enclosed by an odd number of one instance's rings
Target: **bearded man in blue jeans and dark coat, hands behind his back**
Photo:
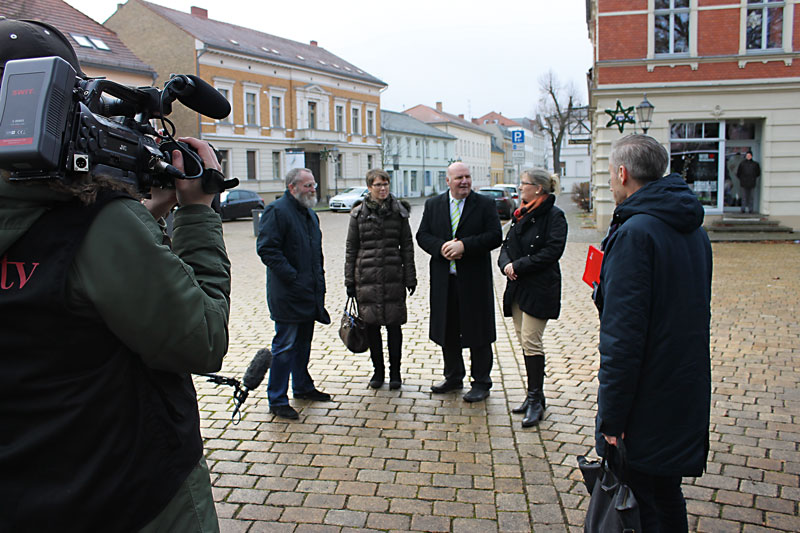
[[[299,418],[289,405],[289,375],[294,397],[328,402],[308,373],[314,321],[330,324],[325,310],[325,270],[317,203],[317,182],[307,168],[286,174],[286,192],[264,210],[256,250],[267,265],[267,304],[275,322],[267,395],[270,412]]]

